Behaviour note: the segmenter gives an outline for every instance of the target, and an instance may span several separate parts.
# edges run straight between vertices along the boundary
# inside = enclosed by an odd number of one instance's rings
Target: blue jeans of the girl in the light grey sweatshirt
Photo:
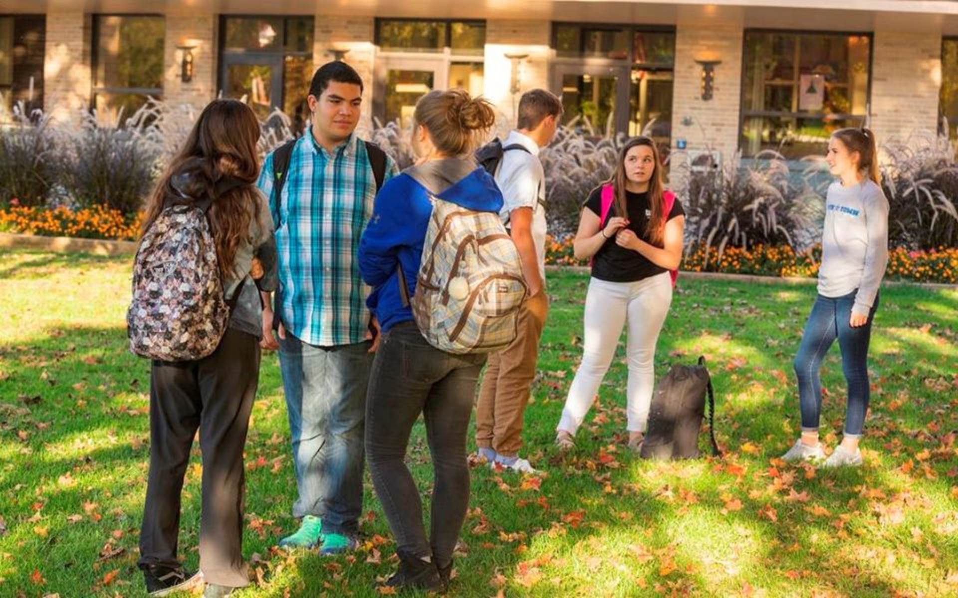
[[[848,404],[845,410],[845,435],[858,437],[865,425],[868,411],[868,342],[872,336],[872,321],[878,309],[878,296],[863,326],[849,325],[857,290],[844,297],[828,298],[819,295],[811,307],[805,324],[802,344],[795,356],[795,376],[798,378],[798,396],[802,410],[802,432],[817,432],[822,410],[822,383],[818,376],[822,360],[838,339],[841,365],[848,383]]]

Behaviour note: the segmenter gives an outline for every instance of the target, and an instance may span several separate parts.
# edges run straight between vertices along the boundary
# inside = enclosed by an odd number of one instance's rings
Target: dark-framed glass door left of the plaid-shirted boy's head
[[[283,55],[223,55],[223,96],[244,100],[260,120],[282,108]]]

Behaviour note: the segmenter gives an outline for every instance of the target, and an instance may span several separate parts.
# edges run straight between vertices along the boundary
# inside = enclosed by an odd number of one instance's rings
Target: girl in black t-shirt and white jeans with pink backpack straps
[[[592,405],[628,322],[628,446],[638,450],[649,417],[652,360],[672,303],[673,273],[682,258],[685,212],[662,183],[662,165],[648,137],[627,142],[612,179],[589,194],[574,249],[592,258],[585,296],[582,365],[569,388],[556,444],[573,435]]]

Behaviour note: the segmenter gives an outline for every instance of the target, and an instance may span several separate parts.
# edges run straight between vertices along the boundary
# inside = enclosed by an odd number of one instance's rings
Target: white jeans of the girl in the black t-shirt
[[[585,340],[582,364],[569,387],[557,430],[576,433],[615,357],[628,321],[628,432],[645,432],[655,372],[655,343],[672,304],[668,272],[637,282],[592,278],[585,296]]]

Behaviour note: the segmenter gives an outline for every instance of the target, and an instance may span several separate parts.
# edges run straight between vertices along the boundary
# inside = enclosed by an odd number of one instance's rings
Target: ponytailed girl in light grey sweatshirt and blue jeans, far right
[[[795,356],[802,435],[786,461],[821,460],[823,466],[861,465],[858,441],[868,413],[868,344],[878,309],[878,287],[888,264],[888,200],[878,174],[875,134],[844,128],[829,140],[825,162],[837,177],[825,200],[818,295]],[[845,430],[829,457],[818,441],[822,385],[818,371],[837,339],[848,383]]]

